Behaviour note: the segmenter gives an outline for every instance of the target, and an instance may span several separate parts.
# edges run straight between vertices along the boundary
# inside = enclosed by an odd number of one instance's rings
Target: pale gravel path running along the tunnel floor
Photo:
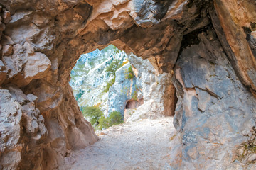
[[[103,130],[95,145],[71,153],[75,162],[65,169],[169,169],[172,122],[172,117],[145,119]]]

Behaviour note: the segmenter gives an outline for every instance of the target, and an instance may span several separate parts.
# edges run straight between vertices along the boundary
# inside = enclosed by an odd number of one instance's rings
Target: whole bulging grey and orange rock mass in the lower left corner
[[[32,94],[28,94],[31,96]],[[1,162],[4,169],[17,169],[20,164],[32,168],[28,161],[40,168],[43,140],[48,135],[44,118],[35,103],[16,86],[1,90]]]

